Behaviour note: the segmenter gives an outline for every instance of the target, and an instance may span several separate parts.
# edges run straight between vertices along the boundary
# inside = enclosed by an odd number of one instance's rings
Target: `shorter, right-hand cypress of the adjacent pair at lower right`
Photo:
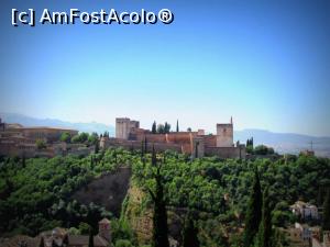
[[[272,209],[271,209],[268,188],[265,189],[263,194],[262,221],[258,226],[258,233],[257,233],[255,246],[256,247],[272,246]]]

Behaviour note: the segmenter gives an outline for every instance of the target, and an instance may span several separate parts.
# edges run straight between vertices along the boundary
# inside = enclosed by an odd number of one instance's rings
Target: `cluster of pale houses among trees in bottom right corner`
[[[299,218],[294,226],[284,229],[290,246],[330,247],[330,231],[322,231],[318,225],[322,209],[310,203],[297,201],[290,206],[290,210]],[[314,223],[314,225],[309,223]]]

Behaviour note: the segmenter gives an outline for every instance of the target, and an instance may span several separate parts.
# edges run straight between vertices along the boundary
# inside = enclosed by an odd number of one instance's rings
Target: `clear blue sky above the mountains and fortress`
[[[169,25],[11,25],[11,9],[170,9]],[[0,112],[330,136],[330,2],[3,0]]]

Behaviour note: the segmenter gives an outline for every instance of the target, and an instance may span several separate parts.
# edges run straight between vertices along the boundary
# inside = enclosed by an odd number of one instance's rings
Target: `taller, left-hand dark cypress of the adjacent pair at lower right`
[[[243,235],[243,246],[250,247],[258,232],[262,218],[262,192],[257,169],[254,171],[254,181],[245,215],[245,229]]]

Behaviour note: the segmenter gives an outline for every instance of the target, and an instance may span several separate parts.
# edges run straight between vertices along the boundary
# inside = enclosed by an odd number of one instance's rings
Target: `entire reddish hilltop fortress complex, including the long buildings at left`
[[[0,155],[19,157],[54,157],[56,155],[88,155],[95,150],[85,144],[67,144],[59,138],[64,133],[72,137],[76,130],[55,127],[24,127],[16,123],[3,123],[0,119]],[[37,148],[43,141],[46,147]],[[140,127],[139,121],[116,119],[116,137],[101,136],[100,148],[122,147],[140,150],[144,145],[148,151],[175,150],[191,157],[218,156],[221,158],[245,158],[245,145],[233,143],[233,122],[216,125],[216,134],[204,130],[187,132],[152,133]]]

